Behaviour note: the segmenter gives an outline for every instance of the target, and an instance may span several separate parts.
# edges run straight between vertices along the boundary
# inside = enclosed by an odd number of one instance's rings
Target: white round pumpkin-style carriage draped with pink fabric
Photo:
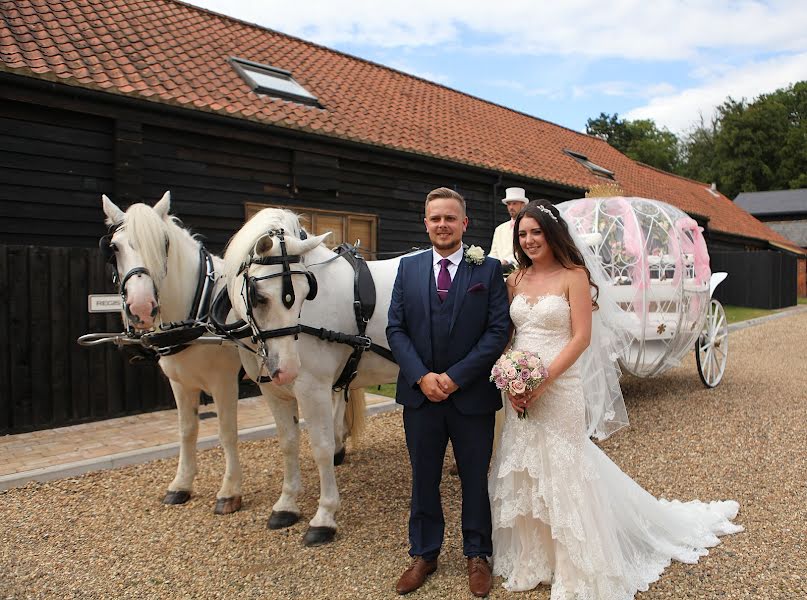
[[[692,344],[701,381],[720,383],[728,358],[728,323],[712,298],[725,273],[711,273],[697,222],[646,198],[583,198],[558,205],[599,257],[632,343],[624,371],[651,377],[680,364]]]

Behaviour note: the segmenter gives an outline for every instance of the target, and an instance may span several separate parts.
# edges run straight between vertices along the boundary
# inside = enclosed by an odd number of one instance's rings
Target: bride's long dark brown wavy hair
[[[550,216],[547,211],[549,211],[552,216]],[[552,254],[555,255],[555,258],[561,266],[565,269],[583,269],[586,272],[588,284],[590,287],[594,288],[594,296],[591,299],[591,305],[596,310],[598,308],[597,298],[600,295],[600,288],[591,280],[591,272],[589,272],[588,267],[586,267],[586,261],[583,260],[583,255],[580,253],[578,247],[575,246],[574,240],[572,240],[568,224],[563,217],[560,216],[560,212],[555,208],[555,205],[549,200],[533,200],[516,215],[516,220],[513,224],[513,254],[518,259],[518,271],[516,272],[514,285],[518,285],[518,282],[521,281],[521,278],[524,277],[524,274],[527,272],[527,268],[532,266],[532,260],[530,260],[530,257],[527,256],[527,253],[524,252],[524,249],[521,247],[518,236],[518,226],[524,217],[531,217],[538,221],[538,225],[541,227],[541,231],[544,234],[544,239],[546,239],[546,243],[549,244],[549,249],[552,250]]]

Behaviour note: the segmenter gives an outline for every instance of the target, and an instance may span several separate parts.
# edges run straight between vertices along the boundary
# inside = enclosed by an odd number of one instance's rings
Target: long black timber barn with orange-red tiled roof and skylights
[[[125,207],[170,190],[213,251],[255,210],[286,206],[334,244],[386,252],[427,241],[423,200],[438,186],[466,197],[467,241],[487,247],[505,188],[560,202],[614,182],[689,213],[713,261],[801,252],[709,185],[603,140],[182,2],[0,11],[0,433],[172,402],[154,369],[75,344],[120,328],[86,311],[88,293],[112,291],[101,194]]]

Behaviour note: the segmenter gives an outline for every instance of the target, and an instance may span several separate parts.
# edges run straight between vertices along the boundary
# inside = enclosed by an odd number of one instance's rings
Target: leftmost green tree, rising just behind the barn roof
[[[617,113],[600,113],[586,122],[586,133],[604,139],[632,158],[664,171],[674,172],[680,163],[678,137],[666,128],[659,129],[650,119],[628,121]]]

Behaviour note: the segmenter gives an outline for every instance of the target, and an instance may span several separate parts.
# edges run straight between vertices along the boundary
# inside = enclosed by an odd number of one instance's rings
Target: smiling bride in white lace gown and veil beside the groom
[[[742,531],[739,505],[657,500],[589,439],[627,424],[617,367],[591,356],[609,356],[599,346],[615,337],[598,306],[607,286],[548,201],[530,202],[514,231],[512,347],[539,355],[549,376],[505,406],[488,481],[493,572],[511,591],[551,584],[552,600],[627,600],[671,559],[695,563],[718,535]]]

